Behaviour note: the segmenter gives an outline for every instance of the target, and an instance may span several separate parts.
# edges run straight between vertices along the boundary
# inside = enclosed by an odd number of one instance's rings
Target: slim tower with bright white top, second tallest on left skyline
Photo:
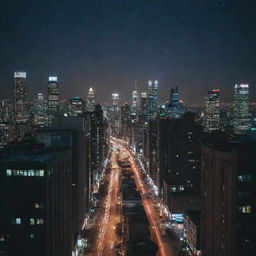
[[[60,89],[57,76],[50,76],[48,81],[48,113],[50,118],[59,115]]]

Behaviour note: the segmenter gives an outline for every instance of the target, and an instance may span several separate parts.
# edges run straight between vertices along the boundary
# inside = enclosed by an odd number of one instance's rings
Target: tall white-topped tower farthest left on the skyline
[[[16,124],[28,122],[27,109],[27,74],[26,72],[14,72],[15,82],[15,121]]]

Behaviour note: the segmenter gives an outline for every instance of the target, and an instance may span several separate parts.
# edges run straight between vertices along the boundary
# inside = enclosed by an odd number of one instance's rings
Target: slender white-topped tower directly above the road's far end
[[[112,135],[120,135],[121,109],[119,93],[112,93],[112,106],[110,107],[110,126]]]

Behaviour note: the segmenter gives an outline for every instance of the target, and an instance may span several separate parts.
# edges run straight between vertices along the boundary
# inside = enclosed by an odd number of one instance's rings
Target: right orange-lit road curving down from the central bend
[[[146,182],[143,180],[140,168],[136,164],[135,157],[132,154],[131,150],[128,149],[128,147],[123,144],[122,142],[112,139],[111,141],[116,147],[119,147],[121,152],[124,152],[127,154],[130,160],[130,164],[132,167],[132,170],[134,172],[135,176],[135,182],[137,189],[141,192],[142,195],[142,201],[143,201],[143,206],[146,211],[149,223],[151,225],[151,230],[153,234],[153,239],[155,243],[158,245],[159,248],[159,256],[175,256],[172,246],[171,246],[171,241],[168,238],[168,236],[163,233],[160,224],[162,222],[159,211],[155,209],[153,200],[149,196],[149,188],[146,184]]]

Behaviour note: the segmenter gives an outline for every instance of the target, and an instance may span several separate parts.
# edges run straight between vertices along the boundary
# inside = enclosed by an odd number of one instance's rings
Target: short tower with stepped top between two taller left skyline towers
[[[34,125],[37,127],[48,126],[47,101],[42,93],[37,94],[37,100],[34,103]]]

